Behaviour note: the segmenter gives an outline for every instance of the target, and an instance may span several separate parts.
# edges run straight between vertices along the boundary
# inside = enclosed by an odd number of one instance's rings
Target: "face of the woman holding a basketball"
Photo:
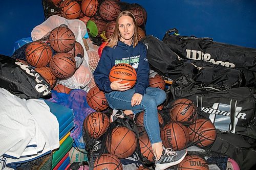
[[[118,20],[118,29],[121,35],[121,41],[131,45],[135,30],[133,18],[130,16],[121,16]]]

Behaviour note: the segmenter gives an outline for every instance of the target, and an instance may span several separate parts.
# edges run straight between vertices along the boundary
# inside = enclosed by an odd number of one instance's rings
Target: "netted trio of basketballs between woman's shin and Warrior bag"
[[[216,139],[216,129],[209,119],[197,118],[193,101],[178,99],[169,109],[170,122],[161,129],[161,139],[165,148],[174,151],[191,145],[207,147]]]

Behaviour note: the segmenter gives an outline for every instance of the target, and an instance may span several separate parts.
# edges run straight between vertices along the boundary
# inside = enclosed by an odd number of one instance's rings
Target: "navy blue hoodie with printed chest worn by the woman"
[[[148,74],[150,67],[146,58],[146,46],[139,42],[135,47],[118,41],[117,45],[103,48],[99,63],[93,73],[95,83],[100,90],[111,92],[109,74],[115,64],[126,63],[135,68],[137,81],[134,86],[135,93],[144,94],[148,87]]]

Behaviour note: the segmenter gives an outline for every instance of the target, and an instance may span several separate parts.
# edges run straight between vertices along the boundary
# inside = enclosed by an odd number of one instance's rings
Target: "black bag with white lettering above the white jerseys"
[[[50,94],[50,85],[32,67],[0,55],[0,87],[24,99]]]

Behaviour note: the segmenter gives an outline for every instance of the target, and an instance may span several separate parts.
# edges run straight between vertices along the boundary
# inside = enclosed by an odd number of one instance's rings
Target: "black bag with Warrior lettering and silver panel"
[[[207,87],[185,75],[174,81],[171,91],[174,99],[192,100],[216,129],[256,139],[255,99],[249,88]]]

